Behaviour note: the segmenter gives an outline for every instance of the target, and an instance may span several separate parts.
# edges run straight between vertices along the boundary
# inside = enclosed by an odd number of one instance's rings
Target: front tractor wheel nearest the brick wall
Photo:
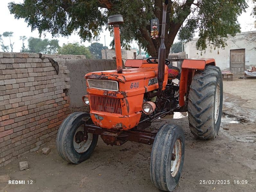
[[[66,161],[79,164],[88,159],[98,142],[98,135],[88,133],[84,141],[84,121],[91,122],[90,114],[75,112],[66,117],[57,133],[57,151]]]

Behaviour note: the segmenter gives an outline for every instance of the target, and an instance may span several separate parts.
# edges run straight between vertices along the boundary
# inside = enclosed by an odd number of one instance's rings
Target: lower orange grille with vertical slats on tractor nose
[[[120,100],[112,97],[90,95],[90,107],[92,111],[122,114]]]

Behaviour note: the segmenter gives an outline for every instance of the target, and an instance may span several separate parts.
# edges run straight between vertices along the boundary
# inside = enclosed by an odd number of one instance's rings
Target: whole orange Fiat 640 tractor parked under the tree
[[[163,6],[158,58],[127,60],[126,69],[122,68],[119,34],[123,18],[108,18],[114,27],[117,70],[85,75],[88,95],[82,99],[90,106],[90,113],[75,112],[63,121],[57,133],[57,150],[66,161],[79,164],[91,156],[99,135],[112,146],[126,141],[153,144],[151,180],[157,188],[173,191],[184,162],[183,130],[175,124],[164,124],[154,131],[146,128],[157,118],[188,111],[192,134],[214,139],[221,122],[223,84],[214,59],[184,59],[181,70],[165,59],[167,4],[165,1]]]

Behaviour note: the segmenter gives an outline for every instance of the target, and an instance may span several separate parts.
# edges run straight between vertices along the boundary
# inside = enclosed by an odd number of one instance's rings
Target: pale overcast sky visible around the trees
[[[10,14],[9,9],[7,7],[8,3],[15,2],[15,3],[21,3],[22,0],[0,0],[0,18],[1,18],[1,27],[0,27],[0,34],[3,34],[5,31],[13,31],[13,41],[15,42],[13,45],[13,52],[20,52],[20,49],[22,47],[22,41],[19,39],[19,36],[27,36],[27,37],[39,37],[39,33],[37,30],[31,32],[31,28],[27,26],[27,23],[25,23],[24,19],[16,20],[14,19],[14,15]],[[246,10],[245,13],[242,13],[241,16],[238,17],[238,22],[241,25],[241,31],[254,31],[256,28],[254,28],[253,21],[256,20],[252,16],[250,16],[252,12],[252,0],[247,0],[247,4],[249,5],[249,8]],[[110,48],[110,42],[112,41],[113,37],[110,37],[110,32],[102,31],[100,34],[100,39],[98,43],[105,44],[104,42],[104,36],[106,37],[106,46]],[[41,37],[43,38],[43,36]],[[46,37],[49,40],[52,39],[51,34],[46,33]],[[56,37],[55,37],[56,38]],[[62,45],[63,43],[73,43],[73,42],[80,42],[80,37],[73,33],[69,37],[57,37],[59,40],[59,45]],[[5,42],[8,43],[7,39],[5,38]],[[95,42],[95,41],[94,41]],[[89,46],[91,43],[94,42],[84,42],[85,46]],[[25,43],[25,46],[27,47],[27,41]],[[132,47],[138,47],[137,44],[134,42],[131,44]],[[1,50],[0,50],[1,51]]]

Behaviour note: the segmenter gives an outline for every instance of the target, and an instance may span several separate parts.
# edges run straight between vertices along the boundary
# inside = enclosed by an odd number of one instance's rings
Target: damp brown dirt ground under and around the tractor
[[[151,125],[175,123],[184,129],[185,161],[176,192],[256,191],[256,79],[234,77],[223,84],[222,123],[215,140],[195,139],[187,117],[158,119]],[[47,156],[39,149],[0,168],[0,176],[26,183],[11,185],[2,179],[0,191],[159,191],[150,180],[152,146],[127,142],[111,147],[99,139],[91,158],[77,165],[58,155],[54,139],[45,147],[51,148]],[[19,171],[19,161],[29,161],[29,169]],[[229,180],[229,184],[200,184],[200,180]],[[245,180],[247,184],[241,184]]]

